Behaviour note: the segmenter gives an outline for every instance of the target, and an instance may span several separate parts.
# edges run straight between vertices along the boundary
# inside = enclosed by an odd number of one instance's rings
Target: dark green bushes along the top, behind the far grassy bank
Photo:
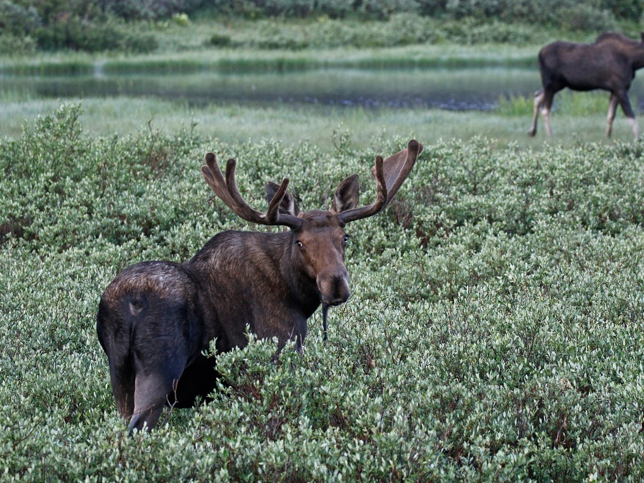
[[[242,29],[247,35],[213,32],[217,47],[539,43],[544,29],[638,33],[642,11],[639,0],[0,0],[0,54],[165,52],[164,30],[191,19],[260,22]],[[276,25],[275,17],[288,20]],[[305,27],[293,30],[292,19]]]

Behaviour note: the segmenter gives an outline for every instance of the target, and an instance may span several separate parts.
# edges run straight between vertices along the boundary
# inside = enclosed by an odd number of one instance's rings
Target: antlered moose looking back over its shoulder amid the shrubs
[[[345,225],[381,211],[412,170],[422,145],[385,160],[376,156],[372,175],[377,196],[357,207],[359,182],[341,182],[330,209],[300,211],[281,185],[266,185],[269,207],[253,209],[238,191],[236,161],[225,175],[213,153],[202,175],[234,213],[248,222],[290,230],[224,231],[189,261],[144,261],[122,270],[103,292],[97,315],[100,345],[108,355],[118,412],[129,432],[155,427],[166,403],[193,406],[216,385],[216,353],[247,344],[246,327],[259,338],[289,340],[301,352],[307,319],[320,303],[339,305],[350,296],[345,267]]]

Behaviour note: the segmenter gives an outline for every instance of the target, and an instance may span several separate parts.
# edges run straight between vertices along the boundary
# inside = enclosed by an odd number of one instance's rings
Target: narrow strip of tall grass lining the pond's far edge
[[[395,68],[464,66],[535,66],[538,47],[404,46],[289,50],[214,49],[145,55],[84,55],[61,53],[28,59],[0,59],[0,73],[44,75],[216,71],[284,71],[325,67]]]

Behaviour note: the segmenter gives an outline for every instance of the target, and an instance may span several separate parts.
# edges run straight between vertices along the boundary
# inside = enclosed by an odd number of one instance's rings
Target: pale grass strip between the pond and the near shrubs
[[[0,136],[19,137],[25,120],[33,121],[41,113],[55,109],[58,100],[24,99],[20,93],[5,93],[0,104]],[[580,104],[588,94],[573,96]],[[527,136],[532,108],[531,100],[514,101],[525,109],[502,106],[500,111],[453,112],[440,109],[362,109],[362,108],[291,108],[290,106],[251,107],[211,104],[202,108],[182,102],[160,99],[115,97],[82,100],[81,120],[91,135],[126,135],[137,131],[148,121],[166,133],[175,132],[190,122],[194,130],[224,142],[238,143],[263,139],[279,140],[287,146],[301,141],[316,144],[325,151],[334,149],[334,131],[348,131],[354,146],[366,146],[372,138],[386,135],[417,136],[437,140],[470,138],[484,135],[495,138],[499,146],[516,144],[523,148],[543,149],[550,144],[569,146],[578,142],[631,141],[632,131],[620,112],[614,122],[611,140],[604,136],[606,96],[590,96],[597,109],[571,115],[557,105],[551,122],[553,140],[548,140],[539,120],[535,138]],[[562,95],[562,104],[567,102]],[[575,101],[577,102],[577,101]],[[601,104],[604,104],[602,107]],[[512,110],[514,109],[514,110]]]

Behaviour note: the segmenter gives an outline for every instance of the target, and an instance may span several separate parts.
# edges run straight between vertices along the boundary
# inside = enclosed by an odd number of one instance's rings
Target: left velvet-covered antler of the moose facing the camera
[[[242,198],[237,184],[235,182],[235,169],[237,162],[229,159],[226,164],[225,180],[222,170],[219,169],[217,158],[214,153],[205,155],[206,166],[202,166],[202,175],[205,182],[213,189],[214,194],[228,205],[240,218],[247,222],[259,223],[260,225],[283,225],[290,229],[297,230],[302,225],[301,218],[290,214],[279,213],[279,204],[284,198],[286,189],[289,186],[289,178],[284,178],[279,185],[278,191],[273,196],[266,213],[252,209],[252,207]]]

